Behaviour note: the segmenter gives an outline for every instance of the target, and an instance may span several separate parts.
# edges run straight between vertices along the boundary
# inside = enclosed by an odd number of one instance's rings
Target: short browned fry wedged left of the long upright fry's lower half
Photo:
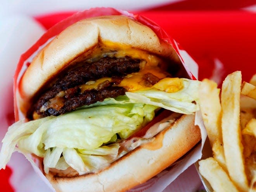
[[[220,140],[216,139],[213,143],[213,157],[218,162],[218,164],[225,170],[227,170],[227,165],[225,161],[224,149],[223,144],[221,144]]]

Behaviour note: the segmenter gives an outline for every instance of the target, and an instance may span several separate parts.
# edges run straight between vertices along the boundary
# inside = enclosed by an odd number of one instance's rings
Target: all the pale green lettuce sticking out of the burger
[[[50,168],[71,167],[79,174],[103,168],[120,156],[119,144],[111,143],[145,126],[159,107],[183,114],[199,110],[200,82],[180,79],[178,86],[170,88],[172,82],[165,79],[148,90],[127,92],[57,117],[17,121],[2,141],[0,168],[16,150],[43,157],[45,173]]]

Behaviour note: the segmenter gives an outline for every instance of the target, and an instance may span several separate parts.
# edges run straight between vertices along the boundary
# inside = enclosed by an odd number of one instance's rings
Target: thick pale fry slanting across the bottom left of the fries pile
[[[216,192],[239,192],[218,162],[209,157],[199,161],[199,172]]]

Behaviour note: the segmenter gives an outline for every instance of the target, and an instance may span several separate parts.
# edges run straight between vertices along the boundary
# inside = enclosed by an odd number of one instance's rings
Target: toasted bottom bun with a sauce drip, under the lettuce
[[[57,192],[124,192],[157,175],[201,140],[194,115],[183,115],[156,139],[137,147],[99,173],[47,179]]]

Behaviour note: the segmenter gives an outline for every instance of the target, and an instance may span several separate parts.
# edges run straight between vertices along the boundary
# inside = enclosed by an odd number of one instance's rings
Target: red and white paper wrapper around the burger
[[[17,92],[17,86],[19,85],[19,81],[21,79],[22,74],[27,69],[28,65],[32,61],[33,57],[40,51],[52,38],[54,38],[56,35],[58,35],[61,31],[63,31],[65,28],[67,28],[69,25],[73,24],[74,22],[80,21],[81,19],[85,19],[88,17],[95,17],[95,16],[104,16],[104,15],[125,15],[128,17],[132,17],[135,20],[141,22],[142,24],[145,24],[149,26],[156,34],[161,38],[162,40],[170,43],[177,54],[180,57],[180,60],[182,61],[183,67],[187,71],[187,74],[191,79],[196,79],[198,76],[198,66],[194,62],[194,60],[187,54],[185,50],[183,50],[180,45],[171,38],[163,29],[158,26],[153,21],[147,19],[144,16],[141,15],[133,15],[123,10],[117,10],[113,8],[93,8],[85,11],[78,12],[74,14],[71,17],[68,17],[67,19],[64,19],[63,21],[57,23],[52,28],[48,29],[46,33],[43,34],[43,36],[31,47],[29,50],[27,50],[24,54],[21,55],[19,63],[17,65],[17,69],[14,75],[14,112],[15,112],[15,118],[16,121],[18,119],[22,118],[21,112],[19,112],[19,109],[17,107],[16,103],[16,92]],[[134,189],[129,190],[129,192],[161,192],[163,191],[168,185],[170,185],[175,178],[178,177],[183,171],[185,171],[190,165],[194,164],[198,159],[202,156],[202,147],[204,145],[204,142],[206,140],[207,134],[204,128],[204,124],[202,121],[202,117],[200,112],[196,113],[195,117],[195,125],[198,125],[201,129],[201,136],[202,140],[201,142],[196,145],[190,152],[188,152],[185,156],[183,156],[181,159],[179,159],[175,164],[171,165],[166,170],[162,171],[158,175],[154,176],[147,182],[138,185]],[[25,155],[26,158],[30,161],[32,164],[34,170],[40,178],[50,187],[50,189],[53,189],[51,184],[48,182],[48,180],[45,178],[45,176],[42,173],[42,167],[41,162],[33,158],[30,154]]]

